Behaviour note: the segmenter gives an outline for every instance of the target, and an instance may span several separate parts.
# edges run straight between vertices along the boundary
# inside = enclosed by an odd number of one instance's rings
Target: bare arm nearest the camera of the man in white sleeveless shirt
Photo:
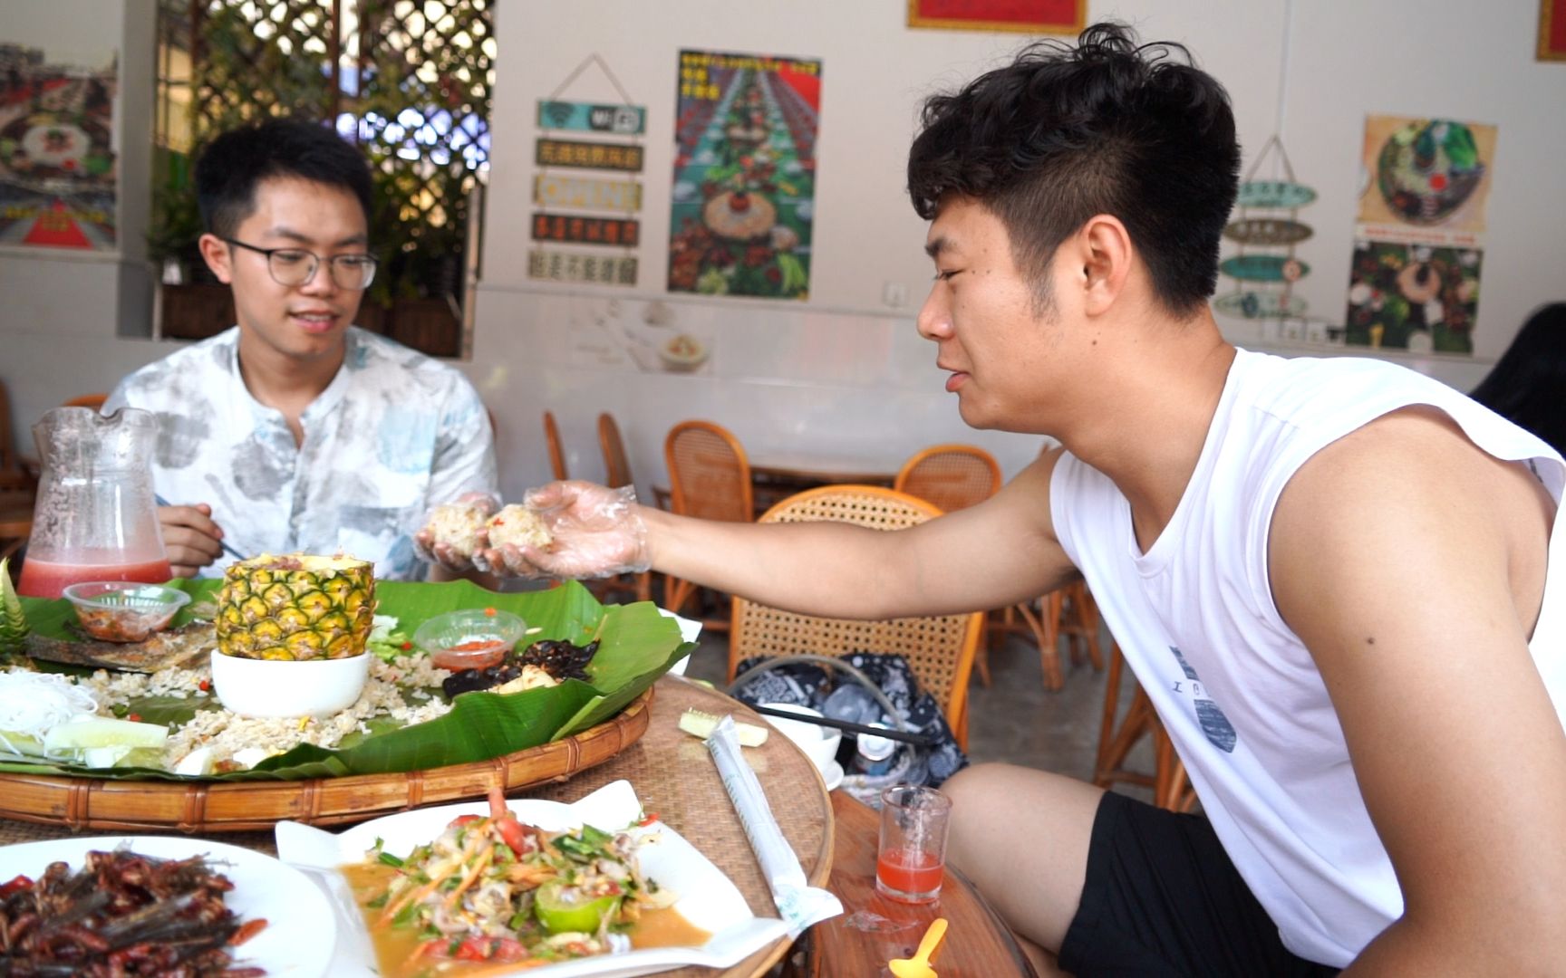
[[[1345,975],[1566,961],[1566,732],[1528,651],[1555,509],[1525,465],[1430,410],[1347,435],[1284,488],[1273,595],[1405,901]]]

